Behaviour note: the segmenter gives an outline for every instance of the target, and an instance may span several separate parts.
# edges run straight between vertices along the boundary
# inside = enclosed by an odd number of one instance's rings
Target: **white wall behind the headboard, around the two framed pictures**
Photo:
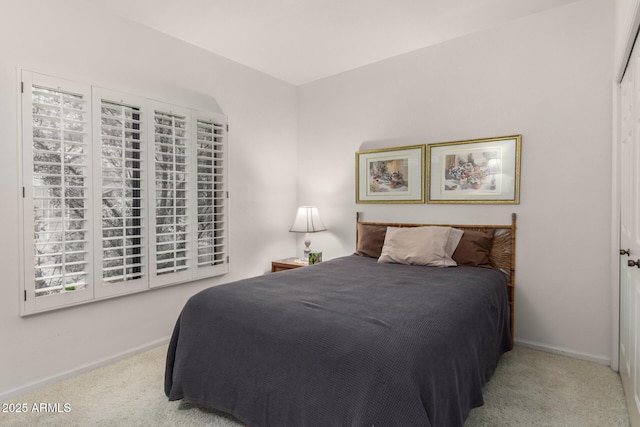
[[[585,0],[304,85],[300,203],[325,258],[365,219],[509,223],[522,344],[609,363],[613,2]],[[356,205],[362,149],[522,134],[519,205]]]

